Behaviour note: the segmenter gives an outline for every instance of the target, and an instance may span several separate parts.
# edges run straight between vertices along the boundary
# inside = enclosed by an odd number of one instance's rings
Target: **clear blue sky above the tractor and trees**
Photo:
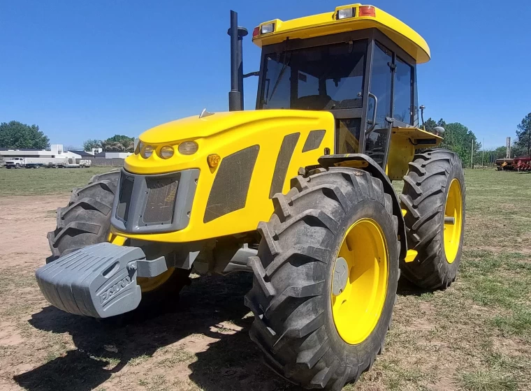
[[[0,0],[0,121],[38,124],[52,143],[136,136],[166,121],[227,110],[229,10],[260,22],[348,1]],[[396,1],[374,6],[428,41],[419,66],[425,118],[468,126],[487,148],[531,112],[531,2]],[[247,37],[245,72],[259,68]],[[254,108],[256,78],[245,84]]]

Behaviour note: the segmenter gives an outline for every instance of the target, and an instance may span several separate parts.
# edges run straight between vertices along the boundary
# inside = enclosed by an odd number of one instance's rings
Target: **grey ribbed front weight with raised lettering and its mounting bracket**
[[[138,247],[94,244],[36,271],[50,304],[76,315],[108,318],[136,309],[142,299],[137,276],[165,272],[166,260],[145,260]]]

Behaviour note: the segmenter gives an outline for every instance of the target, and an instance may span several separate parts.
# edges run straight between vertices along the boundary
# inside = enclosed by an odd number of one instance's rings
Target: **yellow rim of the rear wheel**
[[[452,179],[446,207],[444,207],[444,254],[446,262],[456,260],[461,241],[461,227],[463,226],[463,195],[458,179]]]

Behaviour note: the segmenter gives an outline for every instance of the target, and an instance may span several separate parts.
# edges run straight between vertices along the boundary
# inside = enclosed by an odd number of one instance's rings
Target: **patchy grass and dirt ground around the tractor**
[[[0,170],[0,209],[10,212],[10,195],[40,194],[34,219],[52,229],[50,210],[96,172]],[[458,279],[435,292],[400,281],[384,354],[344,390],[531,390],[531,174],[466,170],[465,178]],[[31,214],[31,198],[20,200]],[[247,274],[198,277],[174,311],[106,325],[50,307],[33,274],[45,239],[35,241],[38,259],[12,235],[0,251],[1,390],[298,390],[264,367],[249,341]]]

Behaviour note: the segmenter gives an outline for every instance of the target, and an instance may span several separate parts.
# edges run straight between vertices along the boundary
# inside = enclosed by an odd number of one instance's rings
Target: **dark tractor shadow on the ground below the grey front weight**
[[[29,324],[57,337],[71,334],[77,349],[13,379],[29,391],[95,390],[135,357],[151,356],[191,334],[204,334],[215,341],[189,364],[189,379],[203,390],[298,390],[263,364],[259,348],[249,339],[252,316],[245,317],[249,310],[243,296],[251,287],[250,277],[203,276],[185,287],[178,304],[165,311],[134,312],[112,323],[45,307],[31,316]],[[227,321],[242,330],[212,331]]]

